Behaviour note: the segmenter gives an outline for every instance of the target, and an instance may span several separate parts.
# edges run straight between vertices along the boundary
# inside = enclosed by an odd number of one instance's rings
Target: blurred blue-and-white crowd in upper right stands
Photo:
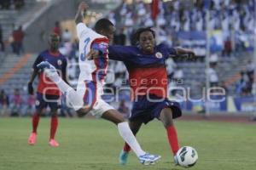
[[[192,1],[191,1],[192,2]],[[245,41],[242,32],[253,31],[253,0],[197,0],[194,8],[186,8],[187,1],[164,3],[160,1],[156,22],[151,16],[151,4],[138,0],[137,3],[123,2],[120,8],[108,14],[118,28],[124,33],[127,42],[133,43],[131,34],[139,26],[155,26],[157,23],[159,42],[178,45],[176,32],[205,31],[207,28],[207,11],[210,9],[209,29],[222,30],[224,41],[230,42],[231,31],[237,32],[237,38]],[[226,44],[229,45],[229,44]]]

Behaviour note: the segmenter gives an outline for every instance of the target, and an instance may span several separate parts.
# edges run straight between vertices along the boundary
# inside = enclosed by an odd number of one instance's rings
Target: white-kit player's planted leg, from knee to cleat
[[[143,165],[154,164],[160,160],[160,156],[152,155],[142,150],[140,144],[137,142],[137,139],[131,132],[128,122],[125,122],[124,117],[118,111],[108,110],[102,114],[102,118],[107,119],[108,121],[117,125],[120,136],[127,144],[131,146],[131,149],[135,152],[139,161]]]

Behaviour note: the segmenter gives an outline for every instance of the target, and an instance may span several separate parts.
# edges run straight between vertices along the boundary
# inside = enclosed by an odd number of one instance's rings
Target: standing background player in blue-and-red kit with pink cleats
[[[51,65],[55,65],[55,68],[61,71],[61,76],[65,82],[67,82],[67,59],[63,56],[58,48],[60,43],[60,37],[56,34],[49,36],[49,49],[43,51],[38,55],[38,58],[33,64],[33,72],[28,82],[29,94],[33,94],[32,82],[35,77],[38,76],[38,90],[37,90],[37,101],[36,101],[36,112],[32,116],[32,133],[28,139],[28,144],[35,144],[37,140],[37,129],[40,115],[44,108],[49,105],[51,122],[50,122],[50,134],[49,134],[49,145],[57,147],[58,142],[55,140],[55,132],[58,127],[58,100],[60,99],[61,92],[57,88],[54,82],[45,77],[44,73],[38,72],[37,65],[42,61],[48,61]]]

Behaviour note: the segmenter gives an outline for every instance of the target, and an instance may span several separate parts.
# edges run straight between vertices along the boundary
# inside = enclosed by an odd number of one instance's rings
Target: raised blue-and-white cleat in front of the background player
[[[44,74],[52,80],[59,78],[58,72],[54,65],[49,64],[48,61],[42,61],[37,65],[38,69],[43,70]]]

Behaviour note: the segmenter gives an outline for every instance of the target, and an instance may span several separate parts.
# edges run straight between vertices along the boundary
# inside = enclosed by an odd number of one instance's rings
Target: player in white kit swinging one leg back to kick
[[[102,118],[115,123],[120,135],[131,146],[139,160],[145,165],[154,164],[160,159],[160,156],[150,155],[143,151],[123,116],[101,99],[102,86],[108,67],[108,43],[113,39],[114,27],[109,20],[102,19],[96,22],[95,31],[92,31],[83,23],[83,13],[87,8],[86,3],[80,3],[75,18],[79,37],[80,68],[77,90],[75,91],[61,80],[55,67],[48,62],[42,62],[38,67],[44,69],[46,75],[56,83],[62,93],[67,94],[68,101],[76,111],[80,114],[90,111],[93,116],[102,116]],[[94,60],[86,59],[86,55],[90,55],[91,49],[98,51],[100,57]]]

